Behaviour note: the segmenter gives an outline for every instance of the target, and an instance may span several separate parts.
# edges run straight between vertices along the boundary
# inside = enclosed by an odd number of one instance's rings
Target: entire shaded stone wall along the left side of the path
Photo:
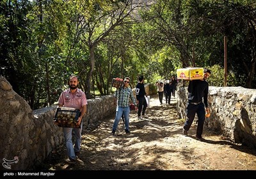
[[[148,94],[148,85],[145,85]],[[134,94],[135,95],[135,94]],[[83,134],[99,126],[100,121],[115,113],[115,98],[112,95],[88,100],[88,109],[83,119]],[[32,111],[24,98],[13,91],[6,79],[0,76],[0,159],[2,169],[29,169],[42,162],[47,155],[63,144],[61,127],[53,123],[56,105]],[[109,128],[109,132],[111,128]],[[18,159],[18,160],[17,160]],[[5,168],[3,167],[5,166]]]

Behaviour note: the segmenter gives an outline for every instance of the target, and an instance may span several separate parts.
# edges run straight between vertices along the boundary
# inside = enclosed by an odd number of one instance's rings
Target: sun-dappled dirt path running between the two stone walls
[[[157,96],[143,120],[136,111],[130,115],[131,134],[125,134],[120,120],[116,136],[111,136],[115,115],[99,128],[84,134],[76,164],[65,162],[65,147],[55,150],[42,164],[49,170],[256,170],[256,151],[232,144],[204,129],[204,142],[195,139],[196,124],[188,136],[182,135],[184,121],[177,118],[176,98],[160,105]]]

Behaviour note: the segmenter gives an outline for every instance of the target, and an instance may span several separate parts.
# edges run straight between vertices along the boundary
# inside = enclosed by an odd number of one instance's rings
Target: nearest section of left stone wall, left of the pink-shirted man
[[[63,143],[60,127],[52,123],[56,107],[32,111],[28,103],[0,76],[0,159],[15,160],[10,169],[29,169]],[[3,163],[3,166],[5,166]]]

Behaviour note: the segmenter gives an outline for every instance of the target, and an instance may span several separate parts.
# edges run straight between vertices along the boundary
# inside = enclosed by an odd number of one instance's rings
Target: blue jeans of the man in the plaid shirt
[[[125,130],[129,130],[129,114],[130,114],[130,107],[116,107],[116,118],[113,124],[113,131],[116,131],[118,123],[124,113],[124,121],[125,121]]]

